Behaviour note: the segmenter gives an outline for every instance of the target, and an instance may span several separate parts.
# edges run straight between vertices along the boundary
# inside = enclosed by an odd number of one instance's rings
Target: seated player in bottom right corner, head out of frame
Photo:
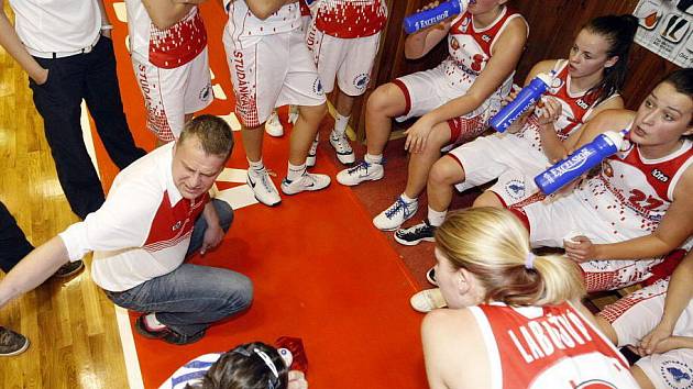
[[[632,376],[642,389],[685,388],[693,384],[693,254],[671,280],[660,279],[597,315],[602,331],[619,347],[641,356]]]

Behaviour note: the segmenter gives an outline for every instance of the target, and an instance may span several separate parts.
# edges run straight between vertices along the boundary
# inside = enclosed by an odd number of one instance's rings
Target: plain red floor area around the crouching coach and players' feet
[[[154,137],[144,130],[143,101],[124,46],[127,25],[108,8],[116,25],[128,121],[138,144],[152,149]],[[229,97],[216,100],[206,112],[229,114],[232,89],[221,45],[226,15],[216,2],[205,3],[202,15],[216,76],[212,84],[220,84]],[[97,140],[95,135],[108,188],[117,170]],[[228,166],[245,168],[238,141]],[[287,147],[287,136],[265,140],[265,164],[279,177],[286,170]],[[333,178],[338,168],[323,153],[315,170]],[[372,227],[371,218],[358,197],[336,182],[320,192],[284,197],[274,209],[255,204],[238,210],[221,247],[194,262],[248,275],[255,284],[252,308],[212,326],[202,341],[188,346],[135,334],[145,387],[157,387],[200,354],[256,340],[272,343],[282,335],[304,340],[311,388],[426,387],[419,338],[422,316],[408,303],[418,286],[385,235]]]

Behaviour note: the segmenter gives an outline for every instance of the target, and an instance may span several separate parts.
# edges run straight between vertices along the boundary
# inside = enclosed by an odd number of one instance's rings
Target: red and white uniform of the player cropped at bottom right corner
[[[645,287],[604,308],[600,315],[608,321],[618,336],[618,346],[637,346],[654,330],[664,312],[669,279]],[[679,316],[674,336],[693,337],[693,301]],[[693,349],[675,348],[640,358],[640,367],[654,388],[691,388],[693,386]]]

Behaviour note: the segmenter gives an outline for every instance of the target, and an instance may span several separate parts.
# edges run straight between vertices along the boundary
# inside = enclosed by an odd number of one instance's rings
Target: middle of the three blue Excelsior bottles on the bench
[[[556,71],[551,70],[550,74],[540,73],[537,77],[532,78],[529,85],[522,88],[513,101],[503,107],[498,113],[491,118],[488,121],[491,126],[497,132],[505,132],[529,107],[539,101],[541,95],[551,86],[554,75]]]

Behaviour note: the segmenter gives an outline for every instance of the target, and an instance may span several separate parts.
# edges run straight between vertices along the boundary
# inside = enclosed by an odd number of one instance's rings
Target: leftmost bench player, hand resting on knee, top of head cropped
[[[383,178],[383,151],[392,118],[421,116],[409,130],[405,148],[411,152],[409,185],[414,188],[373,220],[394,230],[411,218],[426,186],[429,167],[450,141],[477,136],[501,107],[513,85],[513,74],[527,41],[525,19],[506,0],[482,0],[451,22],[407,37],[405,55],[420,58],[444,37],[449,56],[433,69],[397,78],[378,87],[366,107],[367,153],[358,166],[337,175],[343,185]]]

